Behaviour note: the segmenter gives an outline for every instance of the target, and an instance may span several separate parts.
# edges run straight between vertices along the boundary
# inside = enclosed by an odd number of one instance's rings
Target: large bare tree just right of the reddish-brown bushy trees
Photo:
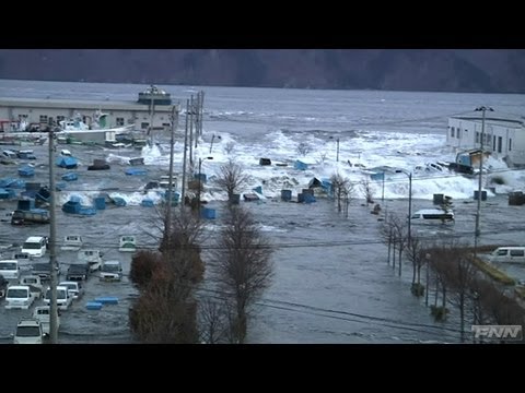
[[[249,308],[271,282],[272,250],[252,214],[241,206],[228,211],[217,242],[217,282],[231,295],[235,310],[232,327],[236,342],[243,343]]]

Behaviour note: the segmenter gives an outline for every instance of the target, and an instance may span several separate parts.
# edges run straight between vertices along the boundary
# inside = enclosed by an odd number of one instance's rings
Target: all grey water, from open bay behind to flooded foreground
[[[2,81],[0,94],[37,97],[70,94],[70,98],[88,95],[100,99],[107,95],[107,91],[112,91],[109,94],[112,99],[127,99],[131,96],[132,99],[136,92],[142,90],[137,85],[71,84],[70,87],[74,88],[63,88],[62,84],[54,82],[24,83]],[[185,87],[172,87],[183,95]],[[170,87],[166,90],[172,91]],[[186,95],[184,93],[184,96]],[[525,99],[523,95],[207,88],[205,129],[208,129],[208,132],[205,136],[209,140],[211,132],[221,132],[224,141],[228,140],[226,133],[238,136],[238,152],[244,148],[245,157],[249,155],[250,162],[256,163],[259,151],[254,152],[252,146],[260,148],[261,145],[269,144],[270,150],[275,146],[276,155],[289,156],[289,152],[279,150],[279,134],[271,141],[267,140],[267,134],[275,133],[276,130],[282,132],[284,136],[292,134],[296,141],[301,141],[303,135],[327,136],[331,132],[341,136],[341,160],[346,162],[350,154],[355,154],[354,143],[361,143],[362,151],[363,146],[374,148],[383,140],[371,139],[375,134],[371,138],[366,134],[364,134],[366,138],[361,135],[363,138],[360,140],[350,138],[346,140],[343,136],[353,135],[357,128],[366,129],[373,123],[384,123],[373,127],[377,135],[390,132],[389,136],[381,142],[383,147],[377,152],[376,158],[384,155],[385,162],[392,158],[396,164],[404,159],[416,163],[421,156],[411,155],[410,152],[399,155],[398,148],[411,140],[419,141],[420,148],[421,145],[424,146],[428,135],[427,143],[432,144],[429,145],[429,154],[434,154],[438,158],[441,151],[438,153],[430,151],[436,150],[436,143],[444,143],[442,130],[446,130],[446,116],[467,110],[476,106],[472,103],[487,102],[489,98],[497,100],[509,111],[521,110]],[[415,121],[421,117],[425,117],[427,120]],[[252,145],[253,141],[260,144]],[[292,142],[287,140],[293,147]],[[135,235],[139,248],[156,248],[156,210],[140,206],[140,199],[143,196],[140,189],[149,180],[158,180],[161,175],[167,174],[166,150],[163,150],[162,157],[145,157],[148,176],[126,176],[124,171],[128,166],[120,165],[118,160],[110,162],[109,170],[88,171],[86,167],[93,158],[104,158],[109,154],[135,157],[139,155],[137,151],[116,152],[75,145],[58,145],[57,151],[62,147],[70,150],[83,165],[75,169],[79,180],[68,183],[65,191],[57,192],[58,246],[67,235],[81,235],[84,239],[84,249],[101,249],[105,253],[104,259],[120,260],[125,276],[120,283],[101,283],[97,277],[92,276],[85,284],[84,297],[73,302],[70,310],[62,312],[58,341],[75,344],[131,343],[128,309],[137,297],[137,290],[128,279],[131,254],[118,251],[118,239],[121,235]],[[35,180],[30,181],[47,183],[47,146],[23,148],[33,148],[38,158]],[[407,146],[406,150],[410,148]],[[267,154],[266,151],[264,153]],[[329,158],[335,160],[332,157]],[[203,167],[217,164],[206,162]],[[258,165],[254,164],[253,167]],[[16,169],[18,166],[0,166],[0,178],[18,177]],[[69,171],[60,168],[55,170],[57,181],[62,174]],[[406,182],[407,179],[404,180]],[[452,191],[454,190],[444,189],[442,192]],[[107,205],[106,210],[88,217],[67,215],[59,209],[71,194],[78,193],[85,199],[100,192],[127,195],[135,203],[124,207]],[[406,188],[395,193],[407,194]],[[85,204],[91,202],[88,199]],[[407,199],[375,202],[383,206],[382,215],[385,211],[400,217],[408,214]],[[217,209],[217,219],[207,224],[202,239],[205,245],[213,242],[213,236],[221,225],[223,203],[210,199],[209,207]],[[378,218],[382,215],[370,214],[372,205],[363,206],[362,199],[351,201],[348,218],[338,213],[335,203],[327,198],[317,198],[317,202],[312,204],[271,199],[242,203],[254,213],[262,233],[271,240],[275,247],[272,260],[276,267],[271,286],[253,309],[253,318],[248,325],[248,343],[459,342],[456,310],[452,310],[446,322],[434,322],[430,310],[424,306],[424,299],[418,299],[410,294],[410,264],[404,263],[400,277],[397,269],[393,271],[392,266],[387,265],[387,247],[378,235],[381,225]],[[418,198],[412,200],[412,212],[431,206],[431,200]],[[20,245],[28,236],[49,235],[48,226],[14,227],[9,224],[5,214],[14,207],[14,202],[0,201],[0,216],[3,219],[0,223],[0,242]],[[476,207],[477,204],[471,199],[456,199],[454,225],[412,225],[412,234],[432,239],[453,236],[471,245]],[[482,201],[480,243],[523,243],[524,209],[509,206],[506,195],[497,195]],[[62,273],[66,273],[68,264],[77,260],[75,252],[60,249],[57,251]],[[9,253],[5,257],[10,257]],[[209,279],[212,261],[206,252],[203,259],[208,266],[206,278]],[[48,257],[42,260],[48,262]],[[199,290],[200,298],[213,296],[212,282],[205,279],[202,289],[206,290]],[[432,293],[430,295],[433,296]],[[104,306],[100,311],[85,309],[88,301],[101,296],[117,297],[118,305]],[[1,299],[0,342],[10,343],[10,334],[14,333],[16,321],[21,317],[30,315],[31,310],[5,310],[3,306],[4,300]]]

